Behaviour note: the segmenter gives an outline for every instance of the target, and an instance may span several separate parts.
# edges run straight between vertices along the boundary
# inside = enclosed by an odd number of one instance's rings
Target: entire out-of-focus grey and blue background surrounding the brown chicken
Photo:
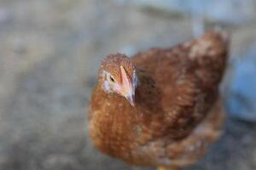
[[[1,0],[0,169],[131,168],[90,143],[87,108],[106,54],[232,32],[224,135],[191,170],[256,169],[255,0]],[[150,168],[149,168],[150,169]]]

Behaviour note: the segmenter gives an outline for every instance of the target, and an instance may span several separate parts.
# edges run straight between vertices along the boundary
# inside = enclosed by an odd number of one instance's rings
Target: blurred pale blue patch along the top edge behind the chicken
[[[254,17],[254,0],[113,0],[171,12],[202,13],[206,19],[241,24]],[[193,11],[192,11],[193,10]]]

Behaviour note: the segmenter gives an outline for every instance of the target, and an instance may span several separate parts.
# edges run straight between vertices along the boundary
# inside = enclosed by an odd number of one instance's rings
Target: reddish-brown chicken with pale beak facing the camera
[[[218,84],[228,52],[227,33],[209,31],[131,58],[109,54],[90,101],[96,148],[135,166],[195,164],[222,131]]]

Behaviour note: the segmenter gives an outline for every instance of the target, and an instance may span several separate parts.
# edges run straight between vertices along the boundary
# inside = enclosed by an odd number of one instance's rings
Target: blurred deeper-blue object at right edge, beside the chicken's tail
[[[256,43],[245,56],[236,60],[224,92],[226,109],[231,116],[256,121]]]

